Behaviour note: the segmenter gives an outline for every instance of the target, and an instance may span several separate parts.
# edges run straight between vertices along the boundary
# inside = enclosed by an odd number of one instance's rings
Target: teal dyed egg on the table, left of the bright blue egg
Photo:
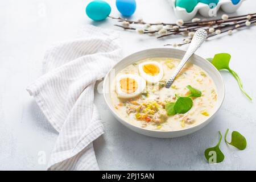
[[[86,6],[85,12],[90,19],[101,21],[108,17],[111,12],[111,7],[105,1],[96,0]]]

